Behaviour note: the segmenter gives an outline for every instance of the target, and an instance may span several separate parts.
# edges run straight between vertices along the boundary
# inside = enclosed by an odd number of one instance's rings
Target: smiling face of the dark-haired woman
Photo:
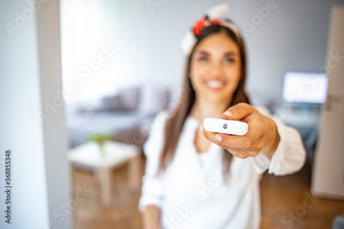
[[[241,76],[238,45],[223,33],[207,36],[193,52],[190,73],[197,99],[229,103]]]

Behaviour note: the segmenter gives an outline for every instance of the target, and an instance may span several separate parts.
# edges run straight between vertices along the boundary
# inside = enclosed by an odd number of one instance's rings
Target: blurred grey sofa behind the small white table
[[[66,115],[69,148],[88,141],[89,135],[111,133],[112,140],[136,144],[142,148],[147,129],[156,113],[166,109],[169,89],[128,87],[106,96],[100,106],[86,106]]]

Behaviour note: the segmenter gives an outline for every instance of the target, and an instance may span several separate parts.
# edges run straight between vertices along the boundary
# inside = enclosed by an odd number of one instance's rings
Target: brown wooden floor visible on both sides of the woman
[[[144,173],[142,160],[142,175]],[[310,195],[310,165],[299,173],[276,177],[265,174],[261,180],[261,229],[332,228],[336,215],[344,215],[344,201],[319,199]],[[98,180],[88,171],[74,169],[73,193],[80,189],[85,197],[74,207],[75,229],[140,229],[142,221],[137,210],[140,188],[127,185],[127,166],[112,176],[114,199],[111,208],[99,204]],[[80,192],[78,193],[80,195]]]

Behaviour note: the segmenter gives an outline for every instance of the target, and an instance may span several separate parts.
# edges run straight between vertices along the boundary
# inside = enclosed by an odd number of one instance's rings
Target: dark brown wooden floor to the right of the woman
[[[293,175],[265,174],[261,180],[261,229],[330,229],[336,215],[344,215],[344,201],[310,195],[309,164]]]

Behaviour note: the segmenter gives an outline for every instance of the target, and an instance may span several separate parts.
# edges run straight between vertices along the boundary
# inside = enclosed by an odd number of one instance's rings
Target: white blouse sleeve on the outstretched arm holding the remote
[[[301,170],[305,164],[305,148],[299,132],[283,124],[279,118],[272,116],[266,107],[256,107],[264,116],[275,121],[281,140],[271,160],[264,153],[256,157],[249,157],[258,174],[268,173],[274,175],[288,175]]]

